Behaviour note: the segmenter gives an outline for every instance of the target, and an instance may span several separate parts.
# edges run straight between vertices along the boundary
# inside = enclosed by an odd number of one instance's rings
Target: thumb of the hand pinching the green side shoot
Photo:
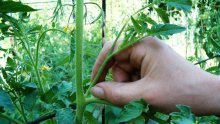
[[[115,105],[125,105],[128,102],[141,99],[143,90],[140,89],[140,82],[102,82],[92,88],[95,97],[110,101]]]

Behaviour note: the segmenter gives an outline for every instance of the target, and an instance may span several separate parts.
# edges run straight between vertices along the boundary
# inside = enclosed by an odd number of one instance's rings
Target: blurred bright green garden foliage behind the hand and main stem
[[[14,120],[14,123],[17,123],[16,120],[31,122],[45,114],[53,115],[54,111],[58,114],[53,116],[58,120],[44,123],[59,123],[59,117],[65,112],[71,120],[74,111],[68,107],[74,108],[75,100],[75,87],[71,83],[75,75],[75,1],[21,0],[22,5],[19,2],[10,3],[12,9],[9,10],[1,8],[4,1],[0,0],[0,122],[9,124],[8,119]],[[125,20],[152,1],[106,1],[104,40],[115,39]],[[164,42],[202,69],[220,74],[220,1],[193,0],[190,13],[170,9],[160,0],[155,1],[157,8],[166,10],[170,23],[187,28],[180,34],[163,38]],[[102,48],[104,18],[101,16],[101,0],[85,2],[83,79],[86,88],[92,66]],[[25,9],[20,10],[19,7]],[[157,22],[166,21],[152,8],[146,9],[146,13]],[[38,90],[38,85],[42,85],[44,92]],[[92,115],[100,121],[101,108],[90,105],[87,107],[87,117]],[[111,119],[119,111],[119,108],[107,107],[107,121],[113,123]]]

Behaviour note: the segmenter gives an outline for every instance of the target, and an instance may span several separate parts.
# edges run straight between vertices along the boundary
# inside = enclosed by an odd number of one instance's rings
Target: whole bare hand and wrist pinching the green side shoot
[[[111,42],[104,45],[92,78],[111,46]],[[113,81],[105,82],[110,68]],[[199,115],[220,111],[220,78],[186,61],[156,37],[146,37],[115,55],[92,88],[92,94],[119,106],[144,99],[155,110],[165,113],[176,111],[177,104],[191,106]]]

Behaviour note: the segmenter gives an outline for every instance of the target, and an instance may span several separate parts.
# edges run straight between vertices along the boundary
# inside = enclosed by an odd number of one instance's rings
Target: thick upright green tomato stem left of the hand
[[[76,124],[81,124],[85,110],[85,98],[82,83],[82,44],[83,44],[83,16],[84,0],[76,0],[76,56],[75,56],[75,83],[76,83]]]

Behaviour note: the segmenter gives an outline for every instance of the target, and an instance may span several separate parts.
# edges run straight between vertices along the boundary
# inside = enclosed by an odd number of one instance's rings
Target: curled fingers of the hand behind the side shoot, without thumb
[[[120,62],[121,64],[119,67],[122,69],[119,69],[119,72],[116,72],[116,74],[114,74],[113,76],[117,78],[117,80],[119,81],[126,81],[127,78],[126,77],[126,73],[125,72],[129,72],[129,71],[133,71],[134,68],[138,69],[139,71],[142,70],[144,71],[144,69],[141,69],[142,65],[143,65],[143,60],[144,58],[147,58],[145,60],[145,65],[146,63],[149,63],[148,61],[151,60],[150,56],[154,56],[153,54],[155,54],[156,50],[158,50],[158,48],[160,48],[160,42],[159,39],[154,38],[154,37],[147,37],[142,39],[143,42],[138,42],[137,44],[125,49],[124,51],[118,53],[117,55],[113,56],[113,58],[107,63],[106,67],[104,68],[98,82],[102,82],[105,80],[106,74],[108,73],[108,70],[116,63]],[[120,43],[120,41],[118,42],[118,44]],[[94,79],[94,76],[97,74],[99,68],[101,67],[101,65],[103,64],[108,52],[110,51],[111,47],[112,47],[113,42],[106,42],[103,49],[101,50],[95,65],[93,67],[93,71],[92,71],[92,79]],[[117,48],[117,45],[116,45]],[[116,49],[115,48],[115,49]],[[126,63],[126,64],[124,64]],[[146,65],[145,67],[148,67],[148,65]],[[120,73],[122,75],[122,78],[118,78],[117,73]],[[131,74],[131,73],[129,73]],[[127,75],[129,77],[129,75]],[[140,77],[131,77],[132,80],[138,80]]]

